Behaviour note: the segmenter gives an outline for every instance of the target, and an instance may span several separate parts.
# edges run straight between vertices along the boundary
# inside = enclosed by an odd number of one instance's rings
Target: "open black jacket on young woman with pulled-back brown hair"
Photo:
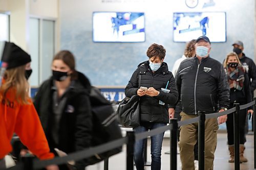
[[[49,147],[52,152],[58,148],[66,153],[83,150],[91,145],[92,113],[89,99],[90,82],[78,72],[78,80],[64,95],[67,101],[59,120],[58,142],[52,137],[54,124],[53,112],[53,79],[46,80],[39,87],[34,98],[34,106],[38,112],[42,127],[45,130]],[[76,168],[84,169],[84,162],[77,161]]]

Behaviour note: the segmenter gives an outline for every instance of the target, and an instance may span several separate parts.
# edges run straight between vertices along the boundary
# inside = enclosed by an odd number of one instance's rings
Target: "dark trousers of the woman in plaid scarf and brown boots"
[[[233,105],[230,105],[233,106]],[[247,115],[247,109],[243,109],[239,111],[239,140],[240,144],[244,144],[245,139],[245,120]],[[233,113],[227,115],[227,141],[228,145],[234,144],[234,124],[233,124]]]

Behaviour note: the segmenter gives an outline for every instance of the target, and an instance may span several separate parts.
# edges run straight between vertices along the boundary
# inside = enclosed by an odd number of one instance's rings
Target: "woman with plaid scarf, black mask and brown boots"
[[[230,87],[229,108],[234,107],[234,103],[244,105],[251,102],[250,81],[246,70],[242,67],[236,53],[229,53],[223,63]],[[253,113],[252,107],[240,110],[239,112],[239,141],[240,141],[240,162],[247,162],[244,157],[245,143],[245,119],[247,113]],[[230,159],[228,162],[234,162],[234,129],[233,114],[227,115],[227,141]]]

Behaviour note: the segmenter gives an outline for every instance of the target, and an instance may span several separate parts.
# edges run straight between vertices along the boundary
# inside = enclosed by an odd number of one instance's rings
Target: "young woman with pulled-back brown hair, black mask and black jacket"
[[[39,114],[51,151],[67,154],[90,147],[92,113],[89,80],[75,70],[71,52],[60,51],[52,62],[52,77],[39,87],[34,106]],[[68,169],[84,169],[86,160],[60,165]],[[72,165],[72,166],[73,166]]]

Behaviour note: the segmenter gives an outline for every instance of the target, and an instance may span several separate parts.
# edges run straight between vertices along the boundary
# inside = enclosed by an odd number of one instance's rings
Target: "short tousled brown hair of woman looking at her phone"
[[[165,53],[166,50],[162,45],[154,43],[148,47],[146,55],[148,58],[159,57],[162,60],[165,57]]]

